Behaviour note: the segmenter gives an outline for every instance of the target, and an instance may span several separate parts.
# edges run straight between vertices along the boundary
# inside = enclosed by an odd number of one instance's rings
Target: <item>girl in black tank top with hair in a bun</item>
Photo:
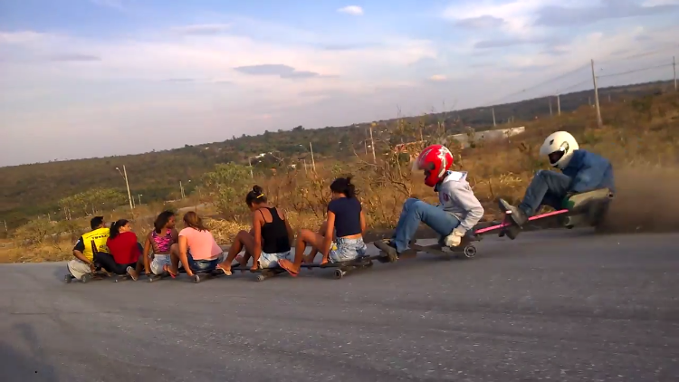
[[[288,224],[282,210],[267,204],[266,196],[260,186],[245,196],[245,203],[253,212],[253,229],[236,234],[234,244],[224,263],[217,265],[225,274],[231,274],[231,263],[235,256],[245,248],[245,256],[239,259],[242,267],[247,266],[253,257],[251,271],[261,268],[274,268],[281,259],[291,259],[291,244],[294,240],[292,227]]]

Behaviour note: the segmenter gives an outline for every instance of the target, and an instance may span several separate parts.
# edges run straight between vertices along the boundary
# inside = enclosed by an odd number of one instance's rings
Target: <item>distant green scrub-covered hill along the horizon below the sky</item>
[[[670,86],[669,82],[649,82],[619,86],[599,90],[601,101],[610,96],[612,100],[634,98],[653,93]],[[560,96],[562,112],[578,109],[588,104],[592,91],[579,91]],[[477,130],[493,128],[492,108],[454,110],[438,114],[427,114],[403,118],[402,123],[422,127],[422,134],[429,135],[436,129],[437,122],[445,122],[445,133],[454,134],[464,131],[464,127]],[[547,99],[522,100],[493,106],[498,128],[521,125],[522,120],[544,118],[550,115]],[[556,115],[556,99],[552,100],[552,112]],[[377,121],[373,134],[383,149],[387,144],[394,145],[418,138],[417,135],[399,132],[398,119]],[[179,181],[185,186],[186,194],[193,191],[197,180],[215,164],[236,162],[276,167],[279,159],[288,163],[303,160],[309,156],[311,142],[316,159],[346,158],[353,150],[362,151],[368,138],[370,122],[345,127],[326,127],[324,129],[304,129],[301,126],[277,132],[266,131],[263,135],[233,137],[224,142],[214,142],[198,146],[186,145],[164,151],[154,151],[139,155],[109,158],[89,158],[56,161],[14,167],[0,167],[3,187],[0,189],[0,220],[6,220],[10,227],[16,227],[36,215],[44,215],[58,210],[57,201],[71,196],[83,189],[102,186],[125,191],[125,183],[115,167],[126,165],[129,186],[136,196],[143,195],[145,202],[177,198]],[[416,129],[419,131],[419,129]],[[262,155],[272,153],[271,155]],[[196,181],[189,183],[189,179]],[[127,193],[127,191],[125,191]]]

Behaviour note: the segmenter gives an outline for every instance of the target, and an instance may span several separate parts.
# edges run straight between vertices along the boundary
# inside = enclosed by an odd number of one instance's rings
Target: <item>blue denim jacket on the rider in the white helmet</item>
[[[573,151],[569,165],[561,170],[570,177],[570,192],[587,192],[598,188],[616,191],[613,180],[613,166],[607,158],[587,150]]]

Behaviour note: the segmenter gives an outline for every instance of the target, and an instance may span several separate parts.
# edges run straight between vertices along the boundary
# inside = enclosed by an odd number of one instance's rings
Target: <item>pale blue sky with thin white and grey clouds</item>
[[[679,0],[0,0],[0,166],[588,90],[590,59],[601,87],[670,80],[677,20]]]

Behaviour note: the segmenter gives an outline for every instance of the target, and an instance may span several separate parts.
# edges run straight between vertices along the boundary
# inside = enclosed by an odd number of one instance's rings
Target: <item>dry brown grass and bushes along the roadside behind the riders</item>
[[[410,157],[396,152],[397,143],[424,141],[411,145],[416,154],[431,143],[445,143],[454,151],[456,169],[469,172],[470,183],[482,201],[485,219],[499,217],[496,199],[518,201],[539,169],[549,169],[538,149],[547,135],[567,130],[581,148],[597,152],[613,161],[616,171],[630,167],[675,167],[679,160],[679,93],[673,91],[627,96],[602,101],[603,128],[598,128],[596,111],[588,106],[563,111],[560,116],[540,115],[538,119],[515,120],[525,132],[511,138],[472,141],[461,148],[450,138],[451,119],[396,119],[392,136],[398,141],[376,142],[376,160],[370,149],[345,150],[338,156],[319,155],[315,169],[304,166],[248,167],[239,162],[215,163],[210,171],[194,174],[186,198],[164,205],[161,202],[137,205],[130,214],[127,194],[111,188],[91,188],[78,195],[63,197],[59,216],[33,219],[2,240],[0,262],[43,262],[70,258],[72,244],[87,230],[89,216],[104,215],[108,222],[134,218],[139,240],[151,229],[155,215],[164,209],[196,209],[209,216],[208,224],[220,244],[229,244],[234,234],[248,228],[249,214],[244,204],[246,192],[258,184],[269,200],[284,208],[294,229],[317,228],[324,219],[334,177],[352,175],[359,198],[367,212],[371,229],[389,229],[397,223],[401,205],[408,196],[435,201],[434,192],[422,184],[420,174],[410,173]],[[423,127],[426,127],[423,131]],[[301,145],[303,142],[300,142]],[[298,146],[299,146],[298,145]],[[379,145],[379,146],[378,146]],[[102,159],[97,159],[102,160]],[[253,175],[251,177],[251,169]],[[622,187],[622,186],[620,186]],[[620,190],[622,192],[622,190]],[[65,218],[66,217],[66,218]],[[58,220],[58,221],[56,221]],[[181,219],[177,219],[179,225]]]

